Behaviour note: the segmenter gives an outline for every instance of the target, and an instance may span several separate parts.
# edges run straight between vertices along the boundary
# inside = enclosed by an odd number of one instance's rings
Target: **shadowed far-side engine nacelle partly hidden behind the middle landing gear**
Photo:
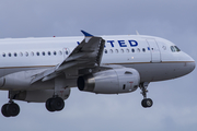
[[[15,94],[14,99],[33,102],[33,103],[45,103],[48,98],[54,95],[54,90],[40,90],[40,91],[22,91]],[[70,95],[70,88],[63,88],[57,92],[57,95],[62,99],[67,99]],[[10,96],[10,95],[9,95]]]

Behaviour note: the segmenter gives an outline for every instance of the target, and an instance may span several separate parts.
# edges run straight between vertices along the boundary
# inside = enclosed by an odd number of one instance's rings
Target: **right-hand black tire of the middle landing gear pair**
[[[60,111],[65,107],[65,102],[60,97],[56,97],[51,100],[51,106],[55,108],[56,111]]]

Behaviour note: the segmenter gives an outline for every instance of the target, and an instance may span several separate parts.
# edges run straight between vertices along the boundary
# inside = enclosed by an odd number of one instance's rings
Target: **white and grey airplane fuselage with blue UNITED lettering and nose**
[[[159,37],[128,35],[102,36],[105,48],[102,64],[134,68],[141,82],[178,78],[192,72],[195,61],[177,50],[173,43]],[[59,64],[83,37],[0,39],[0,76]]]

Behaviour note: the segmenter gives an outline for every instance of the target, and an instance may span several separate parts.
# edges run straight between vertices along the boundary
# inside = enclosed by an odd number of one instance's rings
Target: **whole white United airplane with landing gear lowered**
[[[84,31],[77,37],[0,39],[0,90],[9,91],[1,108],[15,117],[14,100],[45,103],[48,111],[60,111],[70,88],[95,94],[123,94],[141,90],[141,105],[150,82],[190,73],[195,60],[172,41],[146,35],[94,36]]]

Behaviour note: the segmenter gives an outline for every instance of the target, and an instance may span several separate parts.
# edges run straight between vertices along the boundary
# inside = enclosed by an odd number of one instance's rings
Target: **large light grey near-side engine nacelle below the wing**
[[[138,88],[139,72],[130,68],[112,69],[78,78],[80,91],[97,94],[129,93]]]

